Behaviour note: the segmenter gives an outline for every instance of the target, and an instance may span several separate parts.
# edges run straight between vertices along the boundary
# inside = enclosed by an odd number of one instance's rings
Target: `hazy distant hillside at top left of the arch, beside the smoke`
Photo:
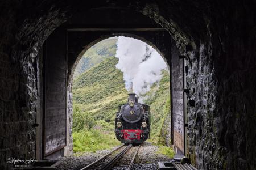
[[[105,39],[89,48],[79,61],[74,72],[74,79],[81,73],[102,62],[108,57],[115,56],[117,38]]]

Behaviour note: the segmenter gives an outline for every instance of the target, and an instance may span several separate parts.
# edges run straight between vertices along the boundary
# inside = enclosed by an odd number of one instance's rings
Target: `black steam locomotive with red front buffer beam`
[[[115,117],[115,136],[125,144],[139,144],[150,137],[150,107],[138,103],[135,95],[129,94],[128,103],[119,106]]]

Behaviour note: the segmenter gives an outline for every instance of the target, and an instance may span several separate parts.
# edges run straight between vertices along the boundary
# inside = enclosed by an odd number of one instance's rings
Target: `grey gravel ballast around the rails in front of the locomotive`
[[[131,162],[131,159],[133,159],[133,155],[137,150],[137,147],[138,146],[132,147],[129,151],[127,151],[126,154],[117,161],[115,167],[113,167],[112,169],[127,169]],[[117,151],[113,152],[113,154],[101,160],[97,166],[91,167],[90,169],[102,168],[103,165],[108,163],[109,160],[117,155],[120,151],[122,151],[123,148],[124,147],[119,148]],[[60,163],[59,165],[57,165],[56,169],[81,169],[82,167],[85,167],[86,165],[94,162],[98,158],[101,158],[102,156],[108,154],[112,150],[102,150],[97,151],[96,153],[82,154],[81,156],[70,156],[61,158]],[[158,169],[158,161],[170,160],[170,158],[168,158],[167,156],[159,154],[158,151],[158,146],[154,146],[149,142],[143,143],[138,150],[132,169]]]

